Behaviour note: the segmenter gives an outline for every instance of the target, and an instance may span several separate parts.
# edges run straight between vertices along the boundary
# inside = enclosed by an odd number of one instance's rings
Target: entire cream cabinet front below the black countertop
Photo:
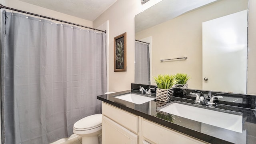
[[[207,144],[102,102],[102,144]]]

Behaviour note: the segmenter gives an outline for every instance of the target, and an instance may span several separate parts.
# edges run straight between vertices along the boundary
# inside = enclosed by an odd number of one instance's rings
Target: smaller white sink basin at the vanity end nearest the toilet
[[[115,98],[119,98],[121,100],[132,102],[134,104],[143,104],[145,102],[149,102],[151,100],[156,99],[156,98],[150,98],[150,97],[141,96],[141,95],[137,95],[137,94],[124,94],[121,96],[116,96]]]

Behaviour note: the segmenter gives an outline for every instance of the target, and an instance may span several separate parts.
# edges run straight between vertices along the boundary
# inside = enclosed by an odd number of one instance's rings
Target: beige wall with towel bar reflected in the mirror
[[[187,73],[192,77],[188,81],[188,88],[202,89],[202,22],[247,9],[247,4],[243,0],[235,2],[215,2],[137,32],[136,39],[152,36],[152,76]],[[184,56],[188,59],[160,62],[160,59]]]

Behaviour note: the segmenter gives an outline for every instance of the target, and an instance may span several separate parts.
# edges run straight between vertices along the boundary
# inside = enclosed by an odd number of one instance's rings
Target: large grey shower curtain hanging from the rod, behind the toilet
[[[48,144],[101,112],[105,34],[2,11],[3,144]]]

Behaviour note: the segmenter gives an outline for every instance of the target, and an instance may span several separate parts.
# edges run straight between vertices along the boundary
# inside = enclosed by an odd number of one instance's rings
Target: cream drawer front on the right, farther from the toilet
[[[149,120],[142,120],[142,135],[156,144],[206,144]]]

